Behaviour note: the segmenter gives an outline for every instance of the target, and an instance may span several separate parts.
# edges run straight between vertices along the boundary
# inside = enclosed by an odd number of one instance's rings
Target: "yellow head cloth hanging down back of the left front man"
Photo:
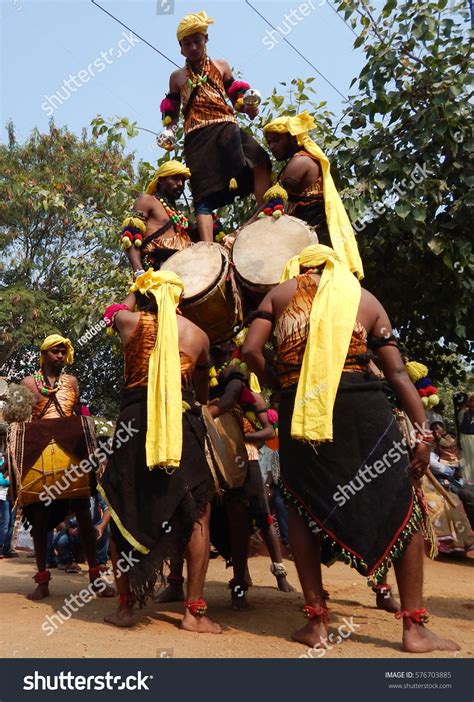
[[[155,347],[148,365],[146,463],[174,469],[183,446],[181,369],[176,308],[183,283],[171,271],[148,269],[130,292],[153,295],[158,306]]]

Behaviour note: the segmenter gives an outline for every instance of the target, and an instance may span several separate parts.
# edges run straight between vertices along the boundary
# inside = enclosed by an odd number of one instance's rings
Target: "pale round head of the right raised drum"
[[[242,229],[232,260],[244,281],[273,287],[280,282],[287,261],[317,242],[315,232],[296,217],[263,217]]]

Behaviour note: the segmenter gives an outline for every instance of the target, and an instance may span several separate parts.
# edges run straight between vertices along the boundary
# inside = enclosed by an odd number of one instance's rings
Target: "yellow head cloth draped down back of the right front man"
[[[300,268],[326,264],[311,307],[308,339],[296,391],[291,435],[304,441],[332,441],[332,413],[359,308],[361,287],[339,255],[315,244],[286,264],[281,281]]]

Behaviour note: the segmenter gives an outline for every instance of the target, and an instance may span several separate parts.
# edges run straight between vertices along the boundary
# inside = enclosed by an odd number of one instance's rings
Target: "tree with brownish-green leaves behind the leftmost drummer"
[[[0,145],[0,368],[12,377],[37,366],[53,331],[78,339],[122,297],[127,266],[118,226],[133,191],[133,157],[53,122],[24,144],[7,126]],[[105,334],[78,347],[74,372],[104,414],[117,408],[120,362]],[[109,382],[108,382],[109,381]]]

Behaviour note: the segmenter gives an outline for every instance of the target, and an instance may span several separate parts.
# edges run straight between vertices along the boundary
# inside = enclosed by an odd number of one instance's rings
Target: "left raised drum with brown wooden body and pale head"
[[[181,311],[206,332],[211,344],[240,331],[242,303],[222,246],[201,241],[173,254],[161,270],[179,275],[184,285]]]

